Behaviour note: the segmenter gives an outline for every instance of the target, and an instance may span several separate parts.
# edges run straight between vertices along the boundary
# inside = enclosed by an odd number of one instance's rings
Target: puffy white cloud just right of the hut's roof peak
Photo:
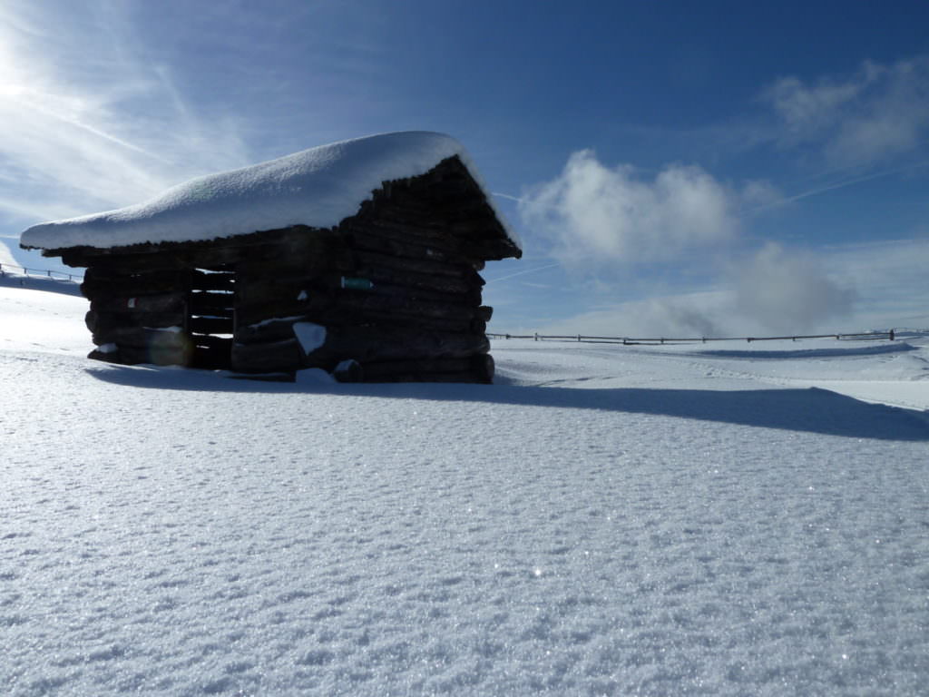
[[[672,164],[649,181],[585,150],[571,154],[558,178],[526,192],[519,214],[567,267],[603,269],[727,243],[738,234],[740,207],[736,191],[698,166]]]

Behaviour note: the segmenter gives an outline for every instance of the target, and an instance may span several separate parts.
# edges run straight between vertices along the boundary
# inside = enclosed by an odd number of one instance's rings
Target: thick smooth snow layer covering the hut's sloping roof
[[[356,214],[382,182],[425,174],[453,155],[479,183],[454,138],[425,131],[387,133],[191,179],[144,204],[35,225],[22,233],[20,244],[106,248],[212,240],[291,225],[330,228]],[[507,234],[519,244],[512,231]]]

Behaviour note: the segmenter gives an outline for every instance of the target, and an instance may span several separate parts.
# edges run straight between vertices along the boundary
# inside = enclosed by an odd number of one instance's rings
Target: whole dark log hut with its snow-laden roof
[[[478,271],[521,256],[460,144],[409,132],[194,179],[26,230],[85,267],[90,358],[490,382]]]

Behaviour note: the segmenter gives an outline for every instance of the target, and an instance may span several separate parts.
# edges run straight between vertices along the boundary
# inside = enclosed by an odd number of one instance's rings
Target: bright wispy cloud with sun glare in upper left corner
[[[136,203],[247,163],[236,125],[198,117],[151,63],[122,3],[0,7],[0,217]]]

